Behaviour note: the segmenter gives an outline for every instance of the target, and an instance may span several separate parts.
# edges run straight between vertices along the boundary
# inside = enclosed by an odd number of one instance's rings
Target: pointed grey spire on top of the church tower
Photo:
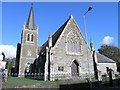
[[[34,29],[34,12],[33,12],[33,3],[31,4],[28,20],[27,20],[27,28]]]

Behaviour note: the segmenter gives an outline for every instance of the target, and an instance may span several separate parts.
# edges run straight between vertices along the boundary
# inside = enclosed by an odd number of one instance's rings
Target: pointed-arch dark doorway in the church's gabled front
[[[74,60],[74,61],[72,62],[72,66],[71,66],[72,76],[79,76],[78,66],[79,66],[79,64],[77,63],[76,60]]]

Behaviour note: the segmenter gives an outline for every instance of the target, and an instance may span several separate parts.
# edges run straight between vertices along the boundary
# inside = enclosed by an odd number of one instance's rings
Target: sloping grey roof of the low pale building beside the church
[[[96,53],[97,54],[97,60],[98,60],[98,63],[115,63],[114,60],[100,54],[100,53]]]

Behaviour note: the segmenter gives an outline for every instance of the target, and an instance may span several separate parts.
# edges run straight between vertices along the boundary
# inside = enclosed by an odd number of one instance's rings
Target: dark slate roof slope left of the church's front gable
[[[60,37],[62,31],[64,30],[64,28],[67,25],[70,18],[52,35],[52,46],[54,46],[56,44],[58,38]],[[41,48],[40,52],[45,53],[46,46],[48,46],[48,40],[42,45],[42,48]]]

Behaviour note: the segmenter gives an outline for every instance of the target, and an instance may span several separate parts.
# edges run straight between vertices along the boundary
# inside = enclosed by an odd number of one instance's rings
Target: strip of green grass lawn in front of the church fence
[[[35,85],[35,84],[58,84],[58,83],[71,83],[69,80],[60,80],[60,81],[41,81],[28,79],[24,77],[8,77],[8,80],[5,82],[6,86],[21,86],[21,85]]]

